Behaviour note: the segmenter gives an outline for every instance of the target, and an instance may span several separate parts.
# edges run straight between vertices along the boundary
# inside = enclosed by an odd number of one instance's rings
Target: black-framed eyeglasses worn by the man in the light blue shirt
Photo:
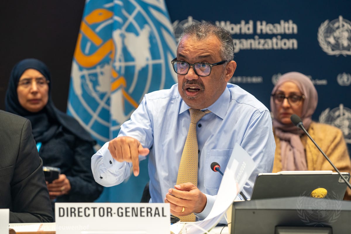
[[[174,58],[171,63],[173,64],[174,71],[179,75],[186,75],[190,69],[190,66],[193,67],[194,72],[198,76],[209,76],[213,66],[221,65],[227,60],[220,61],[218,63],[188,63],[186,61],[178,61],[177,58]]]

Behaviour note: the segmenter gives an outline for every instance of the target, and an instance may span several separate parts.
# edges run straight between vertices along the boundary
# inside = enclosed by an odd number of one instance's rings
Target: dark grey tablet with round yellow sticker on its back
[[[342,172],[347,181],[350,173]],[[251,200],[281,197],[323,197],[342,200],[347,184],[332,171],[281,171],[260,173],[253,186]],[[312,194],[311,194],[312,193]]]

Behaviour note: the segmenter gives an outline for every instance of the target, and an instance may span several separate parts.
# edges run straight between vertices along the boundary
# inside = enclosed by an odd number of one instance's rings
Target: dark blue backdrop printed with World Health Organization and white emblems
[[[195,20],[231,30],[237,62],[232,83],[268,108],[279,75],[299,71],[309,76],[319,98],[313,120],[342,129],[351,150],[351,1],[166,0],[166,4],[176,37]]]

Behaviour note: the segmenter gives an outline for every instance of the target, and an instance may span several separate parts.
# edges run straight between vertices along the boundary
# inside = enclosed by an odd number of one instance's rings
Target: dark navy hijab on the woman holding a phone
[[[46,106],[39,112],[30,112],[24,109],[18,101],[17,85],[21,75],[27,69],[35,69],[39,71],[46,80],[49,81],[48,102]],[[55,132],[62,126],[69,132],[82,140],[95,144],[95,140],[90,134],[75,120],[73,117],[59,111],[51,99],[51,76],[47,66],[35,58],[27,58],[17,63],[10,75],[6,97],[6,111],[29,119],[32,123],[32,133],[36,142],[45,143],[51,139]]]

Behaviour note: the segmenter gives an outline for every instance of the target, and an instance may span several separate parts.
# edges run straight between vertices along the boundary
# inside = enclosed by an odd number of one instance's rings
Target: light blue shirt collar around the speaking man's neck
[[[212,113],[220,117],[221,119],[224,119],[224,116],[227,113],[228,110],[228,105],[231,101],[231,94],[228,89],[228,87],[225,88],[223,93],[219,96],[216,102],[214,102],[212,105],[210,105],[208,108],[205,108],[203,110],[210,110]],[[183,99],[181,99],[180,102],[180,108],[179,108],[179,114],[183,113],[184,111],[190,109],[190,107],[184,102]]]

